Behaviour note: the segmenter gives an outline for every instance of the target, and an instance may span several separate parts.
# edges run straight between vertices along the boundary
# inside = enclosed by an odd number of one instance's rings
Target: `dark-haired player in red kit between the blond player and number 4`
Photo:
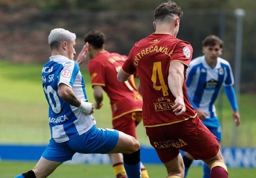
[[[117,81],[117,73],[127,56],[110,53],[105,50],[105,35],[100,31],[90,31],[84,36],[88,42],[88,63],[96,109],[103,105],[103,90],[107,93],[112,110],[113,129],[122,131],[136,138],[135,128],[142,120],[142,97],[136,89],[134,76],[128,81]],[[126,178],[122,154],[109,154],[117,178]],[[147,170],[140,165],[142,178],[149,178]]]

